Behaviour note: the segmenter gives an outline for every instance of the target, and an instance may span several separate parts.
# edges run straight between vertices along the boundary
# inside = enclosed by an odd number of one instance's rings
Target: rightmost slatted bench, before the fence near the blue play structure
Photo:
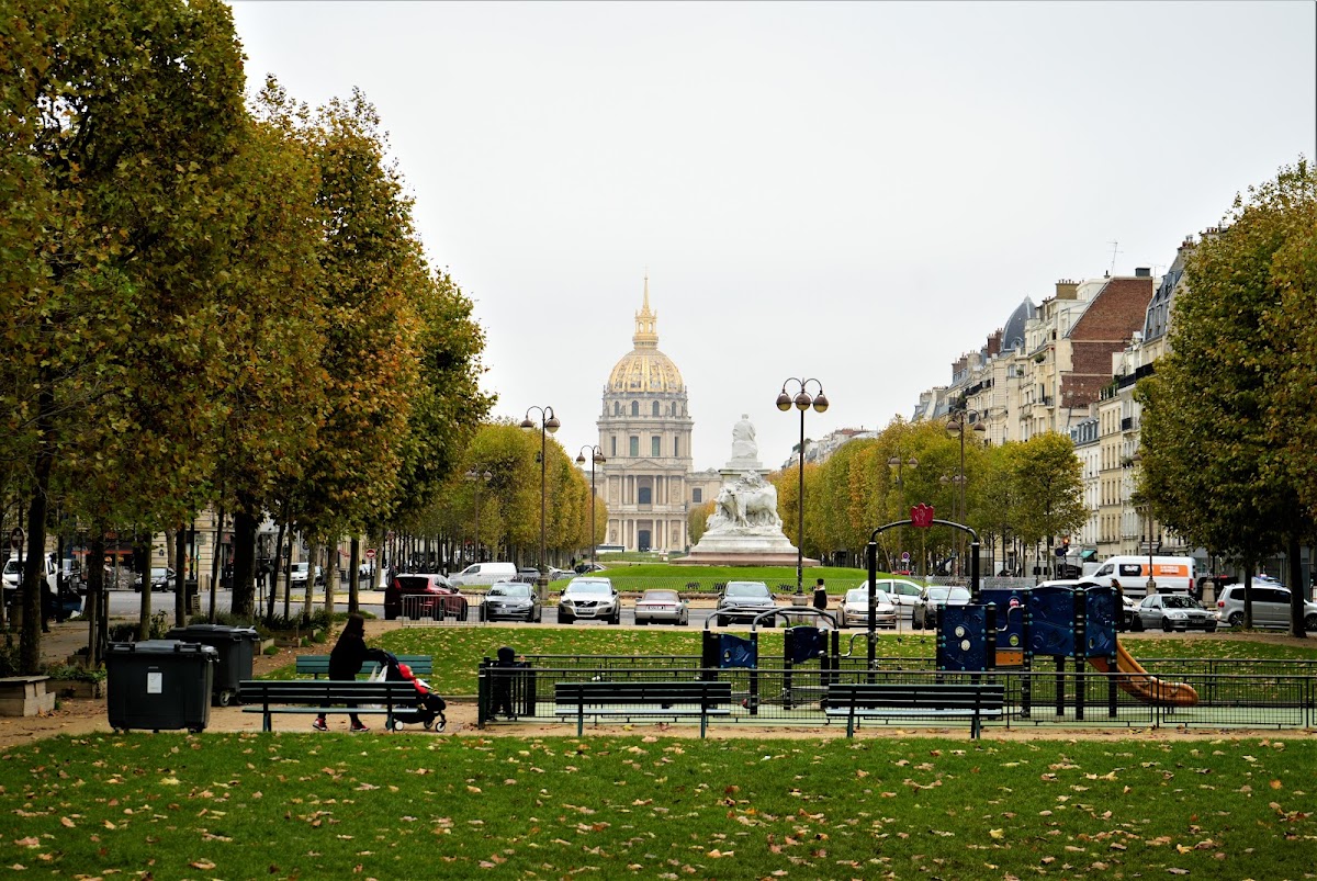
[[[861,719],[969,719],[979,737],[984,719],[1000,719],[1006,686],[984,682],[834,682],[824,697],[828,716],[846,716],[846,736]]]

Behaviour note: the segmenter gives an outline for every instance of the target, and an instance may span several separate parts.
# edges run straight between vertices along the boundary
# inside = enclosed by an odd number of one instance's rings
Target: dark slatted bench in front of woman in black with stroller
[[[411,682],[362,680],[242,680],[238,695],[246,705],[242,712],[259,712],[261,730],[271,731],[271,716],[284,712],[389,716],[395,708],[400,710],[416,701],[416,686]],[[349,703],[358,706],[349,707]]]

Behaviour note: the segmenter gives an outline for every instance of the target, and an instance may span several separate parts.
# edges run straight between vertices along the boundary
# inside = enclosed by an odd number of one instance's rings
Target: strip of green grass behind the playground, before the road
[[[612,628],[612,627],[403,627],[389,631],[379,640],[381,648],[394,654],[429,654],[435,658],[431,683],[444,695],[475,694],[475,672],[483,657],[495,657],[499,647],[510,645],[518,654],[699,654],[701,631],[695,628]],[[847,651],[848,635],[842,651]],[[1313,651],[1266,641],[1202,639],[1164,639],[1160,636],[1122,636],[1134,657],[1205,657],[1205,658],[1312,658]],[[932,631],[880,636],[880,657],[934,657],[936,640]],[[325,652],[329,647],[325,647]],[[867,652],[865,640],[855,641],[857,653]],[[760,632],[760,653],[781,656],[782,631]],[[294,665],[279,668],[270,678],[292,678]]]

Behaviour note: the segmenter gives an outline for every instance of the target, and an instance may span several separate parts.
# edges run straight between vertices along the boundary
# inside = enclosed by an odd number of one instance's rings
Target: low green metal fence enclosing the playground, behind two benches
[[[1173,661],[1166,669],[1150,673],[1166,681],[1184,683],[1197,693],[1193,706],[1172,706],[1142,699],[1131,693],[1141,677],[1129,673],[1102,673],[1083,669],[1019,669],[988,673],[951,673],[928,669],[931,661],[880,658],[868,669],[864,658],[843,658],[836,669],[820,669],[811,662],[802,666],[759,666],[753,669],[701,668],[698,658],[636,658],[540,656],[498,666],[486,661],[479,669],[479,723],[504,719],[547,722],[562,719],[554,702],[557,682],[680,682],[716,680],[730,682],[732,702],[727,715],[711,720],[714,726],[802,726],[827,730],[838,719],[826,715],[827,686],[832,682],[997,682],[1006,686],[1006,711],[986,727],[1181,727],[1181,728],[1312,728],[1317,727],[1317,676],[1312,665],[1258,662],[1274,665],[1268,672],[1213,672],[1218,661]],[[1239,665],[1238,661],[1229,662]],[[1281,669],[1281,668],[1289,669]],[[1260,669],[1260,668],[1259,668]],[[500,718],[502,716],[502,718]],[[587,722],[685,722],[674,714],[668,718],[653,707],[636,708],[628,716],[626,707],[586,712]],[[697,723],[698,724],[698,723]],[[938,718],[896,716],[867,720],[864,727],[932,726],[957,727],[961,723]],[[968,727],[968,723],[964,723]],[[840,720],[844,730],[846,722]]]

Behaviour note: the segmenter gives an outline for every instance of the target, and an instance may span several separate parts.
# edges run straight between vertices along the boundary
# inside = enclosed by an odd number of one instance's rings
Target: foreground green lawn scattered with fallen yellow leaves
[[[1312,878],[1317,741],[94,735],[0,865],[146,878]]]

